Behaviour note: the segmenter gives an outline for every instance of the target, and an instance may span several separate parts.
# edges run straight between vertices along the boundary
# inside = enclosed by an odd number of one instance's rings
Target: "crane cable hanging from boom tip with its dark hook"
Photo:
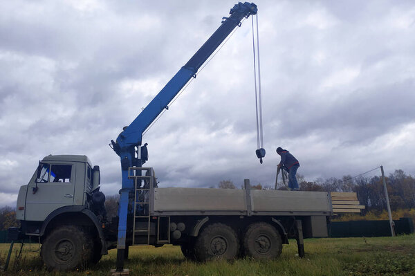
[[[252,50],[254,55],[254,78],[255,78],[255,110],[257,115],[257,150],[255,154],[262,164],[262,158],[265,157],[264,149],[264,129],[262,126],[262,94],[261,94],[261,63],[259,61],[259,28],[258,28],[258,14],[257,18],[257,55],[255,55],[255,28],[254,17],[252,16]],[[255,58],[257,56],[257,59]],[[258,64],[258,69],[257,69]],[[257,74],[258,71],[258,74]],[[257,81],[258,80],[258,81]]]

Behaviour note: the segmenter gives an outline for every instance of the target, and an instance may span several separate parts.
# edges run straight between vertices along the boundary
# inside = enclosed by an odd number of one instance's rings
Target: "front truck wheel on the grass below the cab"
[[[86,267],[91,261],[92,239],[75,226],[62,226],[50,232],[42,244],[44,263],[53,270]]]

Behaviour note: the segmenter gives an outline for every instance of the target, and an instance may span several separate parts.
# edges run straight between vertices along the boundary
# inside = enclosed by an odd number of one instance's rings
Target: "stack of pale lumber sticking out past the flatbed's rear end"
[[[331,205],[335,213],[360,213],[365,205],[359,205],[356,192],[331,192]]]

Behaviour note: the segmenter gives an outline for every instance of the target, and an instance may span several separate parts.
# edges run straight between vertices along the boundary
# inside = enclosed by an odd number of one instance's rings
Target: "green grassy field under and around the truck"
[[[306,239],[306,257],[297,256],[297,244],[290,240],[282,255],[274,261],[237,259],[235,261],[187,261],[178,246],[133,246],[125,268],[130,275],[415,275],[415,235],[376,238]],[[97,266],[68,273],[48,272],[39,252],[20,245],[13,250],[8,273],[3,275],[109,275],[115,268],[116,250],[102,257]],[[32,246],[31,250],[36,250]],[[0,261],[4,264],[8,244],[0,245]]]

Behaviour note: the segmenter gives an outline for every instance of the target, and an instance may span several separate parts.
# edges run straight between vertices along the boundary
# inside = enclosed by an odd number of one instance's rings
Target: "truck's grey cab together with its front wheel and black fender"
[[[105,196],[100,167],[83,155],[49,155],[20,187],[16,217],[19,236],[37,237],[50,268],[66,270],[107,254]],[[88,243],[88,248],[84,244]]]

